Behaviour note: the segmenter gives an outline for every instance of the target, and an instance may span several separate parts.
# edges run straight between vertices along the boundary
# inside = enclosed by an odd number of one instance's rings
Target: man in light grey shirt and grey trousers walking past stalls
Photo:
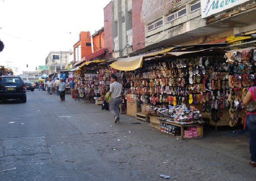
[[[108,100],[108,98],[111,96],[111,100],[109,102],[109,109],[114,116],[114,123],[119,123],[119,120],[120,120],[119,105],[120,105],[122,87],[123,87],[122,84],[117,82],[117,77],[115,75],[112,75],[110,91],[106,99]]]

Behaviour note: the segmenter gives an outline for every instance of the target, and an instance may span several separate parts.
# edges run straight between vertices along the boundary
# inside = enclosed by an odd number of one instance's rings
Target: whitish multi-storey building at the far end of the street
[[[56,73],[58,70],[64,69],[69,63],[69,57],[72,51],[51,51],[45,58],[45,65],[49,66],[49,74]]]

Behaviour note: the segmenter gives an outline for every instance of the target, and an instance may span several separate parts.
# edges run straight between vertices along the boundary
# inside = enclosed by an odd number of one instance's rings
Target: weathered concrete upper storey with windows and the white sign
[[[143,0],[146,50],[182,44],[239,43],[256,29],[255,1]],[[248,33],[247,33],[248,35]],[[239,35],[238,35],[239,36]]]

